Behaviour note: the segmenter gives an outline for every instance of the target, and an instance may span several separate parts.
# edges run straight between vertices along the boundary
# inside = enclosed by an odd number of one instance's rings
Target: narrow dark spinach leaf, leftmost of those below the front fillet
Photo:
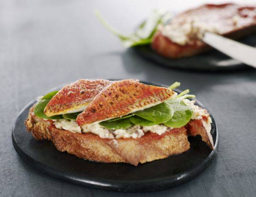
[[[120,119],[117,121],[103,121],[100,122],[99,125],[106,127],[107,129],[127,129],[133,125],[130,121],[130,118]]]

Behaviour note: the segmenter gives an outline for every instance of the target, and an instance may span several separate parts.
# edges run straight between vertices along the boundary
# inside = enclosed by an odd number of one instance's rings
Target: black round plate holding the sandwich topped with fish
[[[155,85],[161,86],[161,84]],[[13,146],[29,165],[61,180],[123,192],[162,190],[193,179],[211,163],[216,155],[218,131],[211,115],[211,134],[215,147],[213,151],[197,136],[189,137],[191,147],[187,152],[138,166],[83,160],[67,152],[59,152],[51,141],[36,141],[27,132],[24,121],[28,116],[29,108],[35,102],[35,100],[30,102],[19,113],[13,126]],[[196,104],[204,107],[198,101]]]

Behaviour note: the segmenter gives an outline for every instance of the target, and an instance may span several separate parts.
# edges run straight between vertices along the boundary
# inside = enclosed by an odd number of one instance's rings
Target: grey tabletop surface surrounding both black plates
[[[180,81],[181,89],[189,88],[215,117],[219,150],[208,169],[182,186],[137,196],[255,196],[256,71],[198,73],[150,63],[125,50],[93,15],[98,8],[113,26],[131,32],[153,8],[181,11],[203,2],[1,1],[0,196],[135,195],[51,178],[21,160],[13,148],[11,127],[19,111],[42,92],[81,78]]]

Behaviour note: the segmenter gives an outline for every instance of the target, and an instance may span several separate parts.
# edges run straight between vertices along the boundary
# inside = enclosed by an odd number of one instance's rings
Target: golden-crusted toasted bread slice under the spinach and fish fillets
[[[59,151],[67,151],[86,160],[138,165],[139,163],[181,154],[189,150],[190,147],[187,140],[187,133],[190,131],[186,127],[171,129],[162,135],[147,132],[143,137],[137,139],[106,139],[92,133],[80,134],[56,129],[52,120],[36,117],[33,110],[34,107],[30,109],[25,125],[35,139],[51,140]],[[197,121],[203,122],[204,120]],[[192,121],[187,128],[193,129],[193,126]],[[209,147],[213,149],[212,140],[207,138],[209,132],[203,123],[197,123],[191,134],[200,134],[202,139],[209,142]]]

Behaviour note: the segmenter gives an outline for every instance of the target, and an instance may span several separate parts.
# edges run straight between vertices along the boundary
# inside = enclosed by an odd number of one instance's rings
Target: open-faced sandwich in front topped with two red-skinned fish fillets
[[[211,118],[185,90],[127,79],[80,79],[40,97],[25,124],[37,140],[79,158],[138,165],[189,150],[200,135],[214,149]]]

